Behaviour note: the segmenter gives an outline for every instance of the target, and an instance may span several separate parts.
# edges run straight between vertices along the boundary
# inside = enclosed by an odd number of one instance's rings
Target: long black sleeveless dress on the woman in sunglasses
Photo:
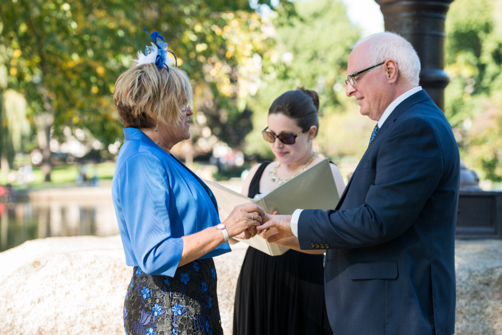
[[[260,193],[263,162],[249,185]],[[248,247],[235,292],[233,335],[329,334],[324,299],[324,255],[288,250],[269,256]]]

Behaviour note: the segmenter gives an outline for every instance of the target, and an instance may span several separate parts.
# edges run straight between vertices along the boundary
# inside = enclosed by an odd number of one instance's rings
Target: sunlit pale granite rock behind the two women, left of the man
[[[226,334],[246,246],[214,258]],[[123,334],[123,301],[132,268],[119,236],[55,237],[0,253],[0,333]]]

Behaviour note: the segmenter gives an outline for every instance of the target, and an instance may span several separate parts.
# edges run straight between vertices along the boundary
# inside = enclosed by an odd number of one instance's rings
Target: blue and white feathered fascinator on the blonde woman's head
[[[175,65],[176,67],[178,66],[178,59],[176,58],[176,55],[174,52],[167,50],[167,43],[164,42],[164,38],[162,35],[159,34],[159,32],[153,32],[152,34],[148,34],[147,28],[143,27],[143,30],[147,35],[152,38],[152,46],[149,47],[147,46],[145,48],[145,54],[143,54],[141,51],[138,51],[138,58],[135,59],[137,62],[137,66],[141,64],[149,64],[149,63],[154,63],[157,65],[159,70],[162,70],[164,66],[167,66],[167,72],[169,72],[169,66],[170,65]],[[160,41],[157,41],[159,39]],[[174,62],[172,61],[171,58],[169,58],[168,54],[172,54],[174,56]]]

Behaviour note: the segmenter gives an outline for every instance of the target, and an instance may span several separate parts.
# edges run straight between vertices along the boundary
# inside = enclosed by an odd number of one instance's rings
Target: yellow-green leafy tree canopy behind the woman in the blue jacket
[[[287,1],[282,4],[282,11],[290,11]],[[178,56],[193,79],[196,101],[204,101],[198,106],[208,115],[227,115],[219,120],[226,121],[221,136],[235,133],[228,141],[241,136],[230,123],[242,128],[252,60],[266,58],[270,49],[247,0],[19,0],[3,4],[0,17],[8,87],[28,101],[46,180],[51,138],[62,141],[66,130],[85,130],[83,141],[97,138],[104,148],[121,142],[111,95],[118,75],[149,43],[144,26],[158,30]]]

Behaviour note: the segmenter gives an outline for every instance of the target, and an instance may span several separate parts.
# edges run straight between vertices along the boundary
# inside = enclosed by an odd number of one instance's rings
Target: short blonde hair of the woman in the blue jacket
[[[158,122],[180,124],[192,104],[187,74],[176,67],[162,70],[153,64],[133,65],[115,82],[113,102],[124,127],[153,128]]]

